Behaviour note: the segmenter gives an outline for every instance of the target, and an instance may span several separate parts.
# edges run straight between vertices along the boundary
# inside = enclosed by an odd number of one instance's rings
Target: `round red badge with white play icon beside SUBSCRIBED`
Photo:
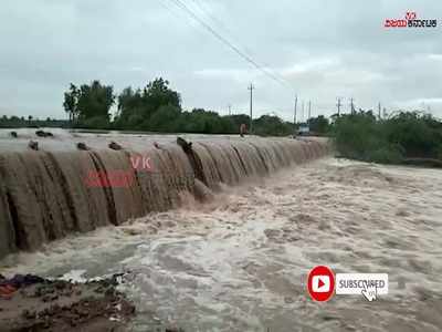
[[[307,289],[315,301],[328,301],[335,292],[335,274],[324,266],[314,268],[308,273]]]

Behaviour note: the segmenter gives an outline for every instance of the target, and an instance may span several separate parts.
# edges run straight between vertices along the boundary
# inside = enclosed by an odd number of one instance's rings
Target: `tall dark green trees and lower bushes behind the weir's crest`
[[[110,120],[110,107],[115,104],[117,113]],[[204,108],[182,110],[181,95],[162,77],[143,89],[127,86],[118,95],[113,86],[99,81],[81,86],[71,83],[64,93],[63,107],[74,127],[91,129],[236,134],[241,124],[250,124],[246,114],[221,116]],[[253,120],[256,135],[287,136],[293,132],[293,123],[274,115]]]

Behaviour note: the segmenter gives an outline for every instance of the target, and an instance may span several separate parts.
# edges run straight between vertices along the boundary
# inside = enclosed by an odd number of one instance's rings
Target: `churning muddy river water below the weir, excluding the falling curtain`
[[[9,256],[1,271],[130,271],[134,331],[441,331],[441,188],[440,170],[324,158]],[[317,264],[389,273],[389,294],[314,302]]]

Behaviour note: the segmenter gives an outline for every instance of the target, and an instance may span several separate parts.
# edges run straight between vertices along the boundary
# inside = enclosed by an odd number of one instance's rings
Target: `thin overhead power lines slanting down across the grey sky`
[[[263,74],[267,75],[270,79],[274,80],[275,82],[290,87],[293,90],[291,84],[286,82],[283,79],[277,77],[274,73],[272,73],[270,70],[264,69],[262,65],[260,65],[256,61],[254,61],[250,55],[245,54],[243,51],[241,51],[236,45],[232,44],[228,39],[225,39],[221,33],[219,33],[215,29],[213,29],[209,23],[207,23],[203,19],[198,17],[186,3],[183,3],[181,0],[170,0],[172,1],[177,7],[181,8],[185,10],[191,18],[193,18],[197,22],[199,22],[206,30],[208,30],[213,37],[215,37],[219,41],[221,41],[223,44],[229,46],[233,52],[235,52],[238,55],[240,55],[243,60],[252,64],[254,68],[256,68],[259,71],[261,71]]]

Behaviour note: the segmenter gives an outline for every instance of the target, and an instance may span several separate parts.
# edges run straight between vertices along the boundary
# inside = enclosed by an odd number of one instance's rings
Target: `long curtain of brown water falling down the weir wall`
[[[180,204],[330,152],[326,141],[203,141],[145,151],[0,153],[0,258]],[[116,180],[118,177],[118,180]]]

